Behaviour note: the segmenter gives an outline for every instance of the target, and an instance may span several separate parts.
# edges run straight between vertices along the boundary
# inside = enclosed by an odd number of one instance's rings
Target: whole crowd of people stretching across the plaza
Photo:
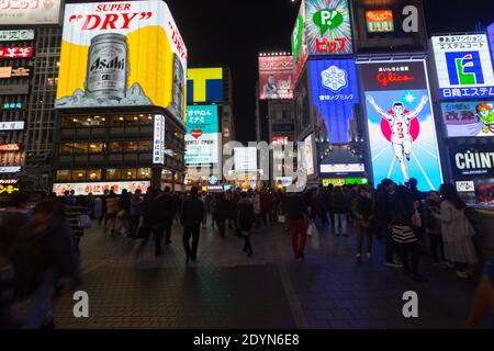
[[[109,190],[103,196],[66,192],[34,208],[20,194],[0,216],[0,325],[53,327],[52,291],[61,288],[67,278],[80,282],[80,241],[91,226],[113,237],[141,240],[136,254],[153,240],[155,254],[161,256],[162,245],[171,244],[173,224],[181,224],[186,264],[197,262],[201,227],[209,223],[221,237],[229,233],[243,238],[247,258],[254,254],[254,230],[288,225],[296,260],[305,257],[307,234],[329,227],[324,233],[337,238],[355,234],[357,263],[372,260],[374,239],[380,238],[388,267],[427,282],[420,272],[424,248],[438,268],[454,268],[461,279],[472,276],[478,258],[465,207],[453,185],[423,193],[414,179],[407,186],[386,179],[377,189],[321,185],[300,193],[236,189],[207,194],[198,188],[180,193],[168,186],[145,194],[139,190],[134,194]],[[23,313],[11,308],[19,305]]]

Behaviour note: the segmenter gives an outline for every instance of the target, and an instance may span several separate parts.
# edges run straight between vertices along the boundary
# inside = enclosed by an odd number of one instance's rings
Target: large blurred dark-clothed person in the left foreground
[[[22,328],[55,328],[50,297],[55,282],[80,272],[75,256],[65,206],[59,201],[42,201],[13,244],[15,297],[27,306]]]

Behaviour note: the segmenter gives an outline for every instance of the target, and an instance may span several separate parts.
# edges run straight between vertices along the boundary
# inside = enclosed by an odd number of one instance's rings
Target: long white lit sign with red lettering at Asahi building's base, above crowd
[[[92,193],[93,195],[103,195],[105,190],[112,190],[115,194],[121,194],[122,190],[126,189],[130,193],[135,193],[136,190],[141,190],[146,193],[147,189],[150,186],[148,181],[137,181],[137,182],[102,182],[102,183],[57,183],[53,185],[53,192],[57,196],[64,196],[66,191],[75,191],[75,195],[88,195]]]

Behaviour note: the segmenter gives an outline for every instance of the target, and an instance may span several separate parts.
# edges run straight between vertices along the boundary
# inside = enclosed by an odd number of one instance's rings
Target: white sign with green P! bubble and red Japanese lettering
[[[305,31],[310,55],[353,53],[348,0],[305,0]]]

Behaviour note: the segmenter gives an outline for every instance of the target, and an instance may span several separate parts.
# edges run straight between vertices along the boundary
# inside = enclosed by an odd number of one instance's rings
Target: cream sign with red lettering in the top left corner
[[[58,24],[61,0],[2,0],[0,23],[9,25]]]

